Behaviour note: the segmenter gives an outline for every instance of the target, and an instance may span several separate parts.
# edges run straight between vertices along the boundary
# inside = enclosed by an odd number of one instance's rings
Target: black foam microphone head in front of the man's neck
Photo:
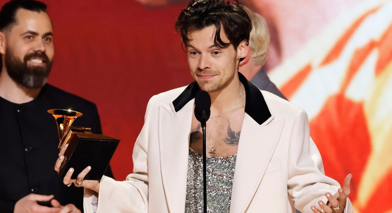
[[[195,97],[195,117],[199,122],[202,120],[206,122],[209,119],[211,114],[210,107],[211,98],[208,93],[203,90],[197,92]]]

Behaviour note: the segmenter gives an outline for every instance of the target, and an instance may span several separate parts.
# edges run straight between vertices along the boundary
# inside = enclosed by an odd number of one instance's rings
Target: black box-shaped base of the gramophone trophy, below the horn
[[[60,177],[64,178],[69,168],[73,168],[72,179],[87,166],[91,170],[83,178],[100,180],[119,145],[120,140],[101,134],[70,131],[67,135],[68,147],[60,166]]]

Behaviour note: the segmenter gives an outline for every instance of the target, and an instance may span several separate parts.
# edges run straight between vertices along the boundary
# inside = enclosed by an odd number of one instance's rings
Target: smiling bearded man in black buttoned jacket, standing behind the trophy
[[[0,53],[0,212],[78,213],[83,190],[65,186],[53,170],[59,136],[47,110],[80,111],[74,125],[102,130],[95,104],[47,84],[54,45],[44,3],[3,5]],[[110,169],[107,174],[112,176]]]

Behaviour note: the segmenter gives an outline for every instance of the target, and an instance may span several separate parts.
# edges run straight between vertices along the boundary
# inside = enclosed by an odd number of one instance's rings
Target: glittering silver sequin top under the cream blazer
[[[237,156],[207,158],[207,213],[229,213]],[[185,213],[203,213],[203,157],[192,149],[188,157]]]

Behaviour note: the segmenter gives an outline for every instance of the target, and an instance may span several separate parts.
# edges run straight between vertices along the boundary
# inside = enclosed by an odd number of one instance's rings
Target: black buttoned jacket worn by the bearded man
[[[25,104],[0,97],[0,212],[12,213],[15,203],[35,193],[55,195],[62,205],[74,204],[82,210],[83,188],[67,187],[54,170],[59,136],[52,108],[80,111],[72,126],[91,127],[102,134],[94,103],[45,85],[39,96]],[[113,176],[110,167],[106,175]],[[47,204],[44,204],[47,205]]]

